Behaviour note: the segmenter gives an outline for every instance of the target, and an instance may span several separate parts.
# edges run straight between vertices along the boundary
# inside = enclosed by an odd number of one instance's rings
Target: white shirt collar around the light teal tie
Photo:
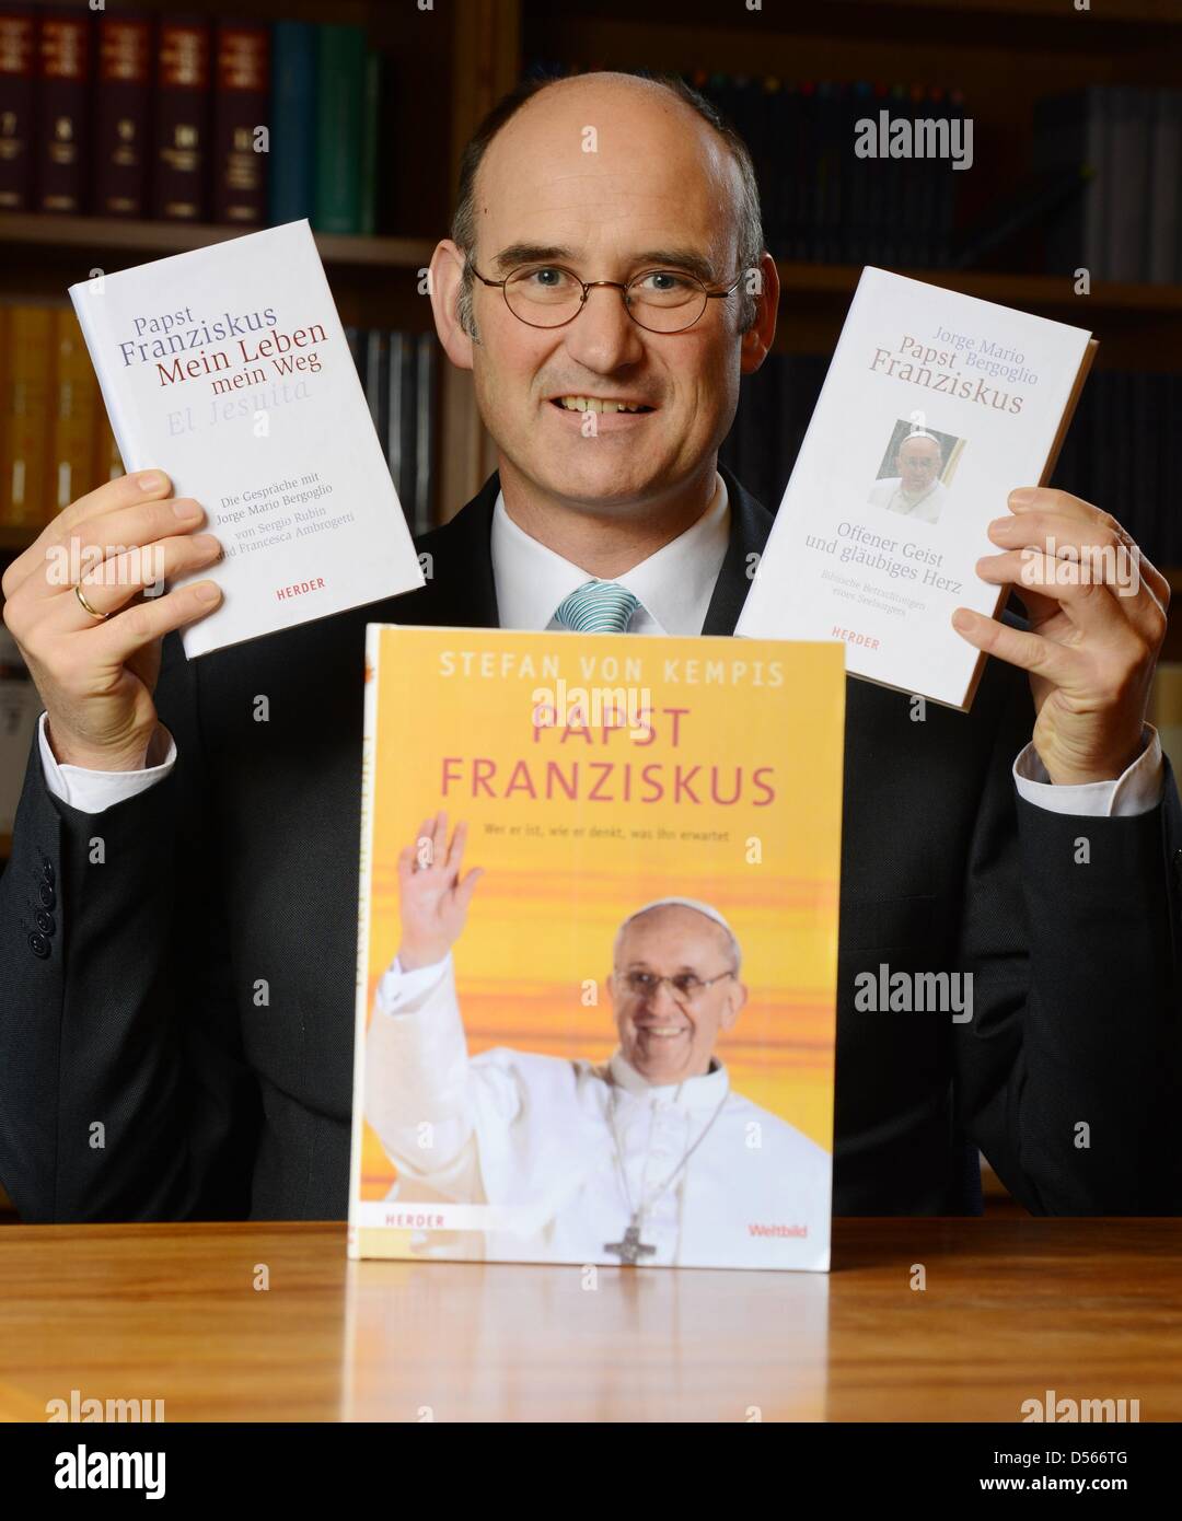
[[[647,616],[636,614],[640,619],[636,631],[700,634],[729,543],[730,503],[726,484],[715,473],[715,493],[701,517],[640,564],[613,578],[640,599]],[[563,598],[590,578],[589,570],[519,528],[500,491],[493,506],[491,555],[502,628],[548,628]]]

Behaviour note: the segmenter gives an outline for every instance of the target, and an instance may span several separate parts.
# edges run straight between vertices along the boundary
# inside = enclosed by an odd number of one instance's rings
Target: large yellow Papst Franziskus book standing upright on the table
[[[829,1267],[844,649],[370,625],[350,1256]]]

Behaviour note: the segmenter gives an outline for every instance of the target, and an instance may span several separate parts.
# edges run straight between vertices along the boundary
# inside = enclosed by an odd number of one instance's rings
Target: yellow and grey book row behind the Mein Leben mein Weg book
[[[345,329],[411,531],[434,523],[437,339]],[[265,411],[265,389],[225,406]],[[29,538],[76,497],[123,473],[73,307],[0,306],[0,526]]]

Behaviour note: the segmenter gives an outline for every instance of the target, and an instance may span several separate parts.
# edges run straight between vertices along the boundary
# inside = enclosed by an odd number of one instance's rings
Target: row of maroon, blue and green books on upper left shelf
[[[0,3],[0,211],[374,233],[391,82],[359,26]]]

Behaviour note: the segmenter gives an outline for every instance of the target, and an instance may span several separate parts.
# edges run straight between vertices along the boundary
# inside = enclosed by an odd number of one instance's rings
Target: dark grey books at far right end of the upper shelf
[[[1094,85],[1041,100],[1034,154],[1047,175],[1091,170],[1083,195],[1048,221],[1048,269],[1182,281],[1182,90]]]

